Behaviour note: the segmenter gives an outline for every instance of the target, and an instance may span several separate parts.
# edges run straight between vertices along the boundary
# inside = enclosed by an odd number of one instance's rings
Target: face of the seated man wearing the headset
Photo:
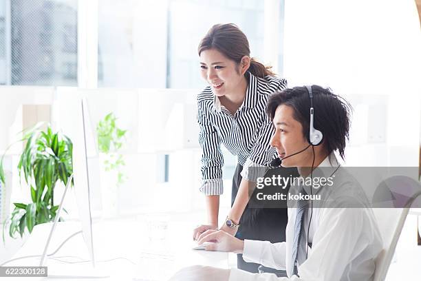
[[[275,127],[274,135],[270,140],[270,145],[277,149],[279,158],[285,158],[291,154],[305,149],[309,145],[303,135],[303,126],[294,119],[294,110],[289,105],[279,105],[273,118]],[[283,167],[307,167],[312,163],[312,149],[282,160]]]

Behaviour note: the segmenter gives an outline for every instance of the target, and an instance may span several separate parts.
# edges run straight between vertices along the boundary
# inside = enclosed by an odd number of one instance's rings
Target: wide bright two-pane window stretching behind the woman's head
[[[197,88],[197,45],[215,23],[236,23],[263,59],[264,1],[102,0],[98,86]]]

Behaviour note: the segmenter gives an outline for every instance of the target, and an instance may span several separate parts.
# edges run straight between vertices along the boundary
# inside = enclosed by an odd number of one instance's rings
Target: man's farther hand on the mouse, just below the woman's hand
[[[214,242],[205,247],[206,251],[228,251],[242,253],[244,250],[244,241],[235,238],[230,233],[223,230],[209,229],[199,236],[197,243]]]

